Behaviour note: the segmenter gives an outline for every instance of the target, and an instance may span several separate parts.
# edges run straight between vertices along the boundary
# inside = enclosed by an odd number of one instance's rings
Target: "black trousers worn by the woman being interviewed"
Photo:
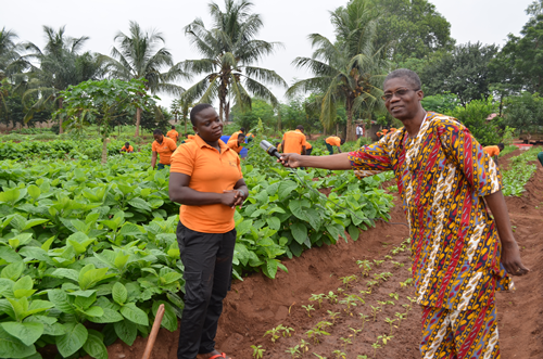
[[[230,290],[236,229],[226,233],[195,232],[181,222],[177,243],[185,266],[185,308],[178,359],[194,359],[215,349],[223,299]]]

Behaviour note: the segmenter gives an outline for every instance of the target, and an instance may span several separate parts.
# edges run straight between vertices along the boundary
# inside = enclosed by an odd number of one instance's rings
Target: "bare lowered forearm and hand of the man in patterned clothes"
[[[502,264],[505,270],[512,275],[527,274],[530,270],[522,265],[520,259],[520,251],[513,236],[509,213],[502,191],[489,194],[484,196],[484,200],[496,221],[497,234],[502,242]]]

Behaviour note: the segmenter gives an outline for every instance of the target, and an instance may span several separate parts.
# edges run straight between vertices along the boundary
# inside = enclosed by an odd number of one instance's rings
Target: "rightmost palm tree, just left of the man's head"
[[[353,115],[383,110],[382,80],[390,68],[386,48],[376,49],[376,29],[379,14],[370,0],[354,0],[345,8],[331,12],[336,28],[336,42],[319,35],[308,36],[312,57],[296,57],[293,64],[307,68],[315,77],[296,81],[287,95],[313,91],[323,93],[320,120],[330,129],[336,121],[337,105],[343,103],[348,115],[346,140],[355,139]]]

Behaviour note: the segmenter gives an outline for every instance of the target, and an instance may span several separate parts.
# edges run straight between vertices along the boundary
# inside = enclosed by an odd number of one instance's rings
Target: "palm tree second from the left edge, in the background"
[[[103,76],[102,61],[97,54],[81,52],[83,46],[89,39],[87,36],[72,38],[65,36],[65,26],[54,30],[43,26],[47,44],[41,50],[33,42],[26,42],[23,48],[29,51],[21,56],[15,65],[27,69],[25,74],[27,90],[23,94],[23,103],[30,105],[25,121],[33,118],[34,113],[47,106],[62,108],[63,98],[60,91],[68,86]],[[37,65],[35,64],[37,63]],[[60,118],[60,133],[63,132]]]

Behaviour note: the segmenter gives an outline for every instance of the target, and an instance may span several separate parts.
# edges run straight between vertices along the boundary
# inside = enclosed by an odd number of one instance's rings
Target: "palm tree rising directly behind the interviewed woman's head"
[[[215,2],[210,3],[213,27],[206,29],[201,18],[185,27],[192,46],[204,56],[179,64],[188,73],[205,77],[189,88],[186,97],[212,102],[218,98],[219,117],[228,119],[235,102],[243,111],[251,107],[251,94],[278,104],[276,97],[261,81],[287,87],[274,70],[252,66],[264,55],[281,46],[254,39],[263,23],[258,14],[250,13],[253,3],[248,0],[225,0],[225,12]]]

